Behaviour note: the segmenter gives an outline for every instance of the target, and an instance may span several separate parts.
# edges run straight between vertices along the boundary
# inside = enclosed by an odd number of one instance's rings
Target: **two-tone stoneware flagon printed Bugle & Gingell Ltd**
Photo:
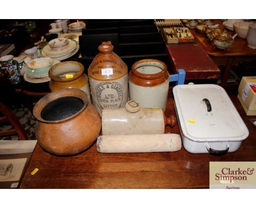
[[[103,108],[123,108],[128,101],[127,66],[113,49],[111,41],[102,42],[88,69],[92,102],[100,115]]]

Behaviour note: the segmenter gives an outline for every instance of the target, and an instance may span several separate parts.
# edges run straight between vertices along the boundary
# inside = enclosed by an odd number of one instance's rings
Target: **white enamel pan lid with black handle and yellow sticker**
[[[184,137],[196,142],[241,141],[249,131],[226,91],[215,84],[173,88]]]

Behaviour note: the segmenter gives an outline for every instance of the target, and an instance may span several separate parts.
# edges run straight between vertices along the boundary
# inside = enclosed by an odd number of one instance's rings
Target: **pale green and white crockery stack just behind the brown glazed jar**
[[[25,81],[31,83],[43,83],[50,81],[48,71],[51,66],[60,63],[60,61],[45,57],[29,60],[28,62],[25,60],[25,63],[28,67],[24,74]]]

